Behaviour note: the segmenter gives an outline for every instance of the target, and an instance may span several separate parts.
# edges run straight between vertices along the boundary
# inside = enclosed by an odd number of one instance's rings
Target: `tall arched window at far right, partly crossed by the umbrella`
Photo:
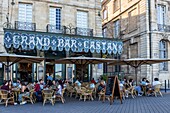
[[[159,58],[163,59],[167,57],[168,57],[167,42],[164,40],[161,40],[159,42]],[[168,62],[160,63],[159,69],[160,71],[168,71]]]

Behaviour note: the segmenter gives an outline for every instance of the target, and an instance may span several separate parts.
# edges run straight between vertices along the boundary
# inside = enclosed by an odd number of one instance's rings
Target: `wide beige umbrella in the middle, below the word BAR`
[[[54,63],[56,64],[80,64],[81,67],[81,77],[83,76],[83,69],[88,64],[100,64],[100,63],[107,63],[117,61],[116,59],[107,59],[107,58],[96,58],[96,57],[67,57],[55,60]]]

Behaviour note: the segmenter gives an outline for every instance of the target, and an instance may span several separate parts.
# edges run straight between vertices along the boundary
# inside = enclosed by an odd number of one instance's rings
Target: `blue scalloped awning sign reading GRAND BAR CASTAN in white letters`
[[[4,29],[4,45],[6,48],[23,50],[51,50],[121,54],[123,43],[121,40],[96,38],[77,35],[64,35],[46,32],[30,32]]]

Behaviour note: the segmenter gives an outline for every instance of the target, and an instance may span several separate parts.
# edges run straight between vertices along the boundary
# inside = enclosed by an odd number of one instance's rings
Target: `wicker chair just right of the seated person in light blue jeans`
[[[31,104],[35,103],[35,100],[33,98],[33,94],[34,94],[34,89],[29,91],[29,95],[24,95],[22,96],[22,102],[24,102],[25,100],[30,101]]]

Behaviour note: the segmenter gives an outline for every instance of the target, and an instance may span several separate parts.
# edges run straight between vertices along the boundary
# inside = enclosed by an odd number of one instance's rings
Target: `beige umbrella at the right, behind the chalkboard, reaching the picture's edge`
[[[150,58],[131,58],[131,59],[120,59],[117,62],[111,62],[108,65],[130,65],[135,68],[135,76],[137,82],[137,68],[141,65],[155,64],[161,62],[167,62],[170,59],[150,59]]]

